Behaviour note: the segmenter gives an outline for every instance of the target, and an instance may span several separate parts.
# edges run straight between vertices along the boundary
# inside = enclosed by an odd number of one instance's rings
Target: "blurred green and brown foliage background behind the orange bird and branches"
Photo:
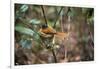
[[[64,40],[63,35],[57,36],[56,45],[52,44],[52,38],[40,36],[41,25],[46,23],[40,5],[15,4],[15,65],[53,63],[53,55],[45,43],[55,46],[57,62],[94,60],[94,9],[63,7],[58,15],[60,9],[44,6],[48,25],[53,27],[58,18],[55,30],[69,33]]]

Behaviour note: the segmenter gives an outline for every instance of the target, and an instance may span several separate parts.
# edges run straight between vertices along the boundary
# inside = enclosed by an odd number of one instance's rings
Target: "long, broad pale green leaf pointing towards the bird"
[[[33,34],[35,33],[33,30],[31,30],[29,28],[25,28],[23,26],[16,26],[15,30],[22,34],[26,34],[26,35],[30,35],[30,36],[33,36]]]

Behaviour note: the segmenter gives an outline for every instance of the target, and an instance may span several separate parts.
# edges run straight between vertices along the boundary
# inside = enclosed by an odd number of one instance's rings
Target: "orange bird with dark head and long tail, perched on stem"
[[[39,30],[40,36],[44,39],[53,39],[53,44],[61,44],[64,39],[68,37],[67,33],[64,32],[58,32],[55,29],[53,29],[50,25],[43,24],[41,29]]]

